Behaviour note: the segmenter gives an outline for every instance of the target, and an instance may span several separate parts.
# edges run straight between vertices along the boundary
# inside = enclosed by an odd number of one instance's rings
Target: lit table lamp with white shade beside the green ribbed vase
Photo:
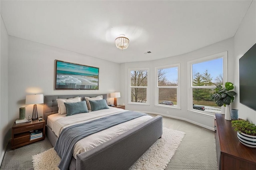
[[[26,105],[34,104],[32,120],[38,119],[36,104],[44,103],[43,95],[26,95]]]

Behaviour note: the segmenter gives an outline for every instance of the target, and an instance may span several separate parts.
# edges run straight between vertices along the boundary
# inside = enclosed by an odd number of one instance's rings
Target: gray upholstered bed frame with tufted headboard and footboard
[[[107,99],[106,94],[103,95]],[[69,99],[74,97],[96,97],[99,95],[46,95],[44,96],[43,118],[47,124],[47,117],[58,113],[56,99]],[[46,136],[52,146],[57,141],[57,136],[46,125]],[[107,142],[80,153],[76,159],[72,157],[70,170],[126,170],[132,166],[158,138],[162,136],[162,116],[156,116],[145,123],[138,125]]]

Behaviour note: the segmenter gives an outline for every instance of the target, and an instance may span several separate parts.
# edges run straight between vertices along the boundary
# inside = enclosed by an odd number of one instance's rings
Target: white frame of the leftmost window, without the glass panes
[[[131,71],[147,71],[147,86],[131,86]],[[150,69],[149,67],[145,68],[129,68],[128,69],[128,74],[129,74],[129,86],[128,86],[128,103],[127,104],[132,104],[132,105],[150,105],[150,95],[149,95],[149,79],[150,79]],[[140,103],[140,102],[132,102],[132,88],[146,88],[146,95],[147,95],[147,101],[146,103]]]

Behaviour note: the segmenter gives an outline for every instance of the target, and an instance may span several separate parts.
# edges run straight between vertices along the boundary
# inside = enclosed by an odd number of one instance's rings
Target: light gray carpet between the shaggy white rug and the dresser
[[[192,123],[177,129],[186,135],[166,170],[218,170],[214,131]]]

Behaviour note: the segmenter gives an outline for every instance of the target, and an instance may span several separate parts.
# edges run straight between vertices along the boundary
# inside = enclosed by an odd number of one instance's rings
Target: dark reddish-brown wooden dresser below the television
[[[256,170],[256,148],[239,142],[231,121],[215,114],[215,142],[219,170]]]

